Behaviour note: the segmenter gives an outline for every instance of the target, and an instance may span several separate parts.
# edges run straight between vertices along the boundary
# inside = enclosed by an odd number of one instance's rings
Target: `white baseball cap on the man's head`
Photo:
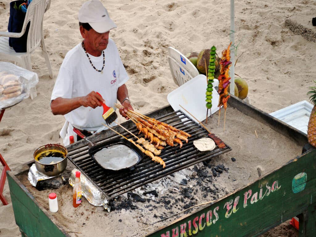
[[[99,0],[83,3],[79,10],[78,20],[81,23],[89,23],[98,33],[104,33],[117,27]]]

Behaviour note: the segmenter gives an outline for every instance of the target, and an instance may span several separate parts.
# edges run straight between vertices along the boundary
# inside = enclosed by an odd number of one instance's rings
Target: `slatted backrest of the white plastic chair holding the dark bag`
[[[46,0],[33,0],[25,15],[24,23],[30,22],[27,35],[27,52],[32,53],[39,46],[42,39],[42,22],[46,8]]]

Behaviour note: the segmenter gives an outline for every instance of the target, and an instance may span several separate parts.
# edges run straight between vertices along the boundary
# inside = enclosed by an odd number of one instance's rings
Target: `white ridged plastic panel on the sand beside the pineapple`
[[[313,105],[311,103],[302,100],[294,105],[272,112],[270,115],[307,134],[307,125],[312,109]]]

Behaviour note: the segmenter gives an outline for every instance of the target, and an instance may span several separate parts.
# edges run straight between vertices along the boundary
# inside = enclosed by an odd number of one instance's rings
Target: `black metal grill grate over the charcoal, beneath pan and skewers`
[[[88,143],[86,141],[82,141],[81,146],[68,149],[68,159],[98,187],[106,198],[112,199],[142,185],[231,150],[227,144],[222,149],[216,146],[212,151],[201,152],[197,150],[193,145],[193,141],[207,137],[208,132],[182,111],[170,112],[155,119],[191,134],[191,137],[188,138],[189,142],[183,142],[181,149],[179,146],[167,146],[161,151],[160,157],[166,163],[165,168],[162,168],[158,163],[154,163],[146,156],[132,171],[122,173],[104,170],[89,156]],[[125,137],[136,141],[136,138],[118,126],[115,129]],[[129,130],[134,134],[138,133],[135,125],[131,125]],[[106,134],[106,138],[101,138],[95,142],[103,142],[119,137],[113,131],[106,131]]]

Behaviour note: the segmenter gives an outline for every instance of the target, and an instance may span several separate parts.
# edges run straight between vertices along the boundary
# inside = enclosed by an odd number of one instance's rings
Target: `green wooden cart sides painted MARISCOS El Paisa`
[[[292,137],[303,147],[307,137],[269,114],[232,97],[229,106]],[[151,113],[170,112],[170,106]],[[153,116],[154,117],[154,116]],[[74,145],[75,146],[75,145]],[[233,148],[234,149],[234,148]],[[294,157],[292,157],[294,158]],[[22,236],[69,236],[64,227],[36,200],[17,178],[32,162],[8,171],[8,181],[16,224]],[[269,196],[269,198],[268,198]],[[273,198],[271,198],[273,197]],[[151,237],[258,236],[299,217],[299,235],[316,236],[316,149],[289,158],[289,162],[254,182],[222,197],[206,207],[181,217],[149,234]]]

